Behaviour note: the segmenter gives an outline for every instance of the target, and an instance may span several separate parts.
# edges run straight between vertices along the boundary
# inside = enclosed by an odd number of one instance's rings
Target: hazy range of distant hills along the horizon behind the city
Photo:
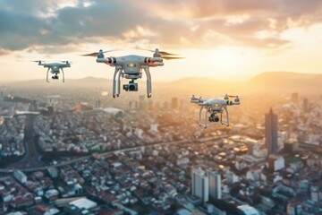
[[[122,80],[122,84],[126,83]],[[146,81],[139,80],[140,90],[146,89]],[[322,94],[322,74],[307,73],[289,73],[289,72],[266,72],[259,73],[257,76],[247,82],[229,82],[216,79],[188,77],[174,82],[156,82],[152,83],[152,90],[160,94],[172,95],[213,95],[223,93],[252,93],[252,92],[272,92],[272,93],[313,93]],[[87,77],[83,79],[66,79],[50,81],[31,80],[23,82],[8,82],[4,84],[9,88],[47,88],[60,89],[79,88],[79,89],[105,89],[112,91],[112,80]]]

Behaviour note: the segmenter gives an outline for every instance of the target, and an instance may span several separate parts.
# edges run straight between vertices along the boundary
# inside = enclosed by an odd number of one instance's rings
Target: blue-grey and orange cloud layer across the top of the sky
[[[280,48],[290,43],[284,30],[321,22],[321,8],[320,0],[0,0],[0,55],[84,43]]]

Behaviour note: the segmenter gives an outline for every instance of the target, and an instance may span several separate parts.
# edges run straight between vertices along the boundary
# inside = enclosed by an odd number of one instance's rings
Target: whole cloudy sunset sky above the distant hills
[[[101,48],[184,56],[151,68],[160,82],[322,73],[321,42],[321,0],[0,0],[0,82],[45,79],[32,60],[72,61],[66,80],[112,79],[113,67],[80,56]]]

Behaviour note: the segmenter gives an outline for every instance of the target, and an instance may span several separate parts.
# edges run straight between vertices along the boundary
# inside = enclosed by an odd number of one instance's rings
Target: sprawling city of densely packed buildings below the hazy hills
[[[1,93],[2,212],[79,214],[80,204],[93,214],[322,211],[317,96],[261,92],[232,109],[229,127],[201,129],[198,108],[173,92],[106,99],[97,89],[41,89]],[[276,156],[265,143],[270,107]]]

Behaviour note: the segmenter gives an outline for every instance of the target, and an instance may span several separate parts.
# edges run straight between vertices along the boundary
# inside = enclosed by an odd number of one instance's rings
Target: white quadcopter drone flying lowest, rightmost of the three
[[[234,98],[234,100],[229,100],[229,98]],[[240,98],[238,96],[231,96],[225,94],[224,99],[202,99],[201,97],[196,98],[194,95],[191,97],[191,103],[195,103],[200,106],[199,111],[199,126],[204,126],[207,128],[208,121],[209,122],[219,122],[219,116],[216,116],[216,114],[220,114],[220,123],[222,125],[229,126],[229,115],[227,106],[233,106],[233,105],[240,105]],[[203,108],[206,107],[206,117],[205,117],[205,124],[201,123],[201,115]],[[226,114],[226,121],[223,121],[223,112],[225,110]],[[208,113],[210,113],[210,116],[208,118]]]

